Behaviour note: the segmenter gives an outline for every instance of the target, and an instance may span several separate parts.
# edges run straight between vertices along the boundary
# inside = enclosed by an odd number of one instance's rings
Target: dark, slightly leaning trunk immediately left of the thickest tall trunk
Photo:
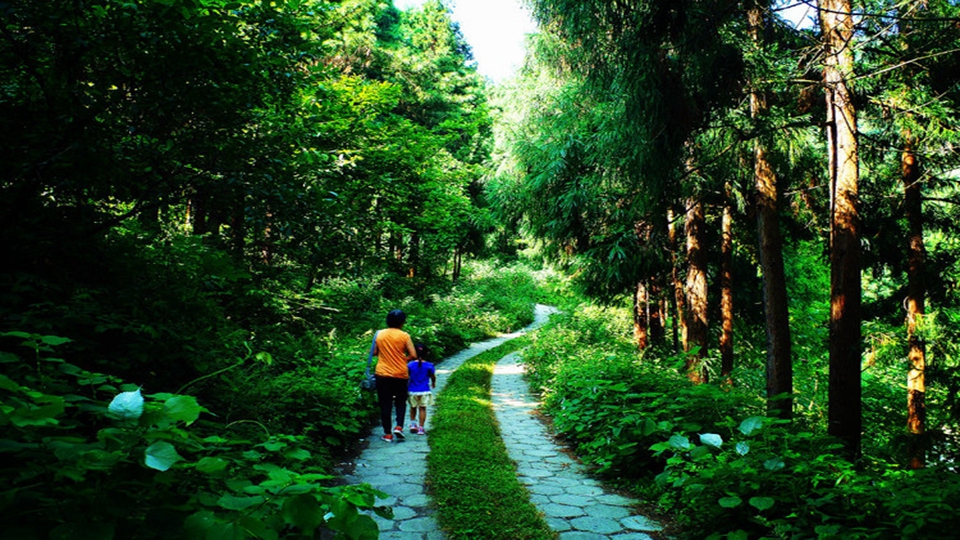
[[[750,37],[762,46],[763,12],[754,4],[747,12]],[[767,114],[766,95],[750,92],[750,115],[754,119]],[[753,147],[753,176],[756,189],[757,237],[760,243],[760,269],[763,274],[763,311],[767,334],[767,413],[793,417],[793,358],[790,343],[790,311],[787,304],[787,277],[783,263],[783,239],[780,233],[777,175],[767,159],[764,141]],[[783,396],[782,398],[775,398]]]

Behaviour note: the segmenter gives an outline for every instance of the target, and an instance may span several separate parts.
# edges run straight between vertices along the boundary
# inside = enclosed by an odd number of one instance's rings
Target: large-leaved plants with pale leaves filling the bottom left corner
[[[29,351],[0,355],[5,537],[375,537],[358,511],[386,494],[331,487],[331,476],[310,472],[306,438],[236,437],[203,419],[193,396],[142,395],[53,356],[68,339],[0,338]]]

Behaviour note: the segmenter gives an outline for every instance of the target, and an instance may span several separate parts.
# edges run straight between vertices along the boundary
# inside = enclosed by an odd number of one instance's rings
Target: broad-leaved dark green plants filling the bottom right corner
[[[669,456],[659,504],[697,538],[929,538],[957,526],[944,513],[960,497],[955,473],[857,470],[841,448],[762,417],[675,435],[651,448]]]

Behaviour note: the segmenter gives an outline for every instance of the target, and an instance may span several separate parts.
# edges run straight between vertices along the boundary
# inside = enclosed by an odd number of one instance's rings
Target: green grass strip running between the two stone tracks
[[[490,401],[494,365],[529,344],[522,336],[465,361],[437,397],[427,483],[451,539],[557,536],[517,479]]]

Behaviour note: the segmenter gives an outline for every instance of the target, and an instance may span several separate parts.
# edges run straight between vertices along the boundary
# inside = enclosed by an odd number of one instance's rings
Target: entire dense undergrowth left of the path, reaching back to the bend
[[[523,267],[308,288],[199,238],[101,249],[83,275],[3,276],[4,538],[375,537],[378,493],[331,473],[373,423],[372,331],[403,309],[442,357],[526,325],[537,294]]]

